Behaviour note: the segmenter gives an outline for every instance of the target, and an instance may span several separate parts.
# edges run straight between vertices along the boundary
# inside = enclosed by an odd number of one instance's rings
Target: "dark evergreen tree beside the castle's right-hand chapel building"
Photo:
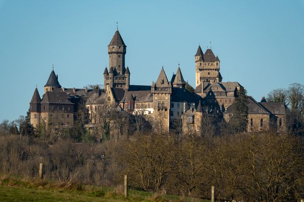
[[[245,132],[248,124],[248,97],[247,91],[241,88],[237,92],[233,109],[233,116],[229,122],[233,132]]]

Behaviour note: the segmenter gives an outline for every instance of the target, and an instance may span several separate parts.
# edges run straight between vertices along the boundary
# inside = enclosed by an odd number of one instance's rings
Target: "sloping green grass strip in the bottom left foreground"
[[[0,180],[0,201],[193,201],[170,194],[156,194],[130,190],[129,197],[123,196],[123,188],[80,185],[73,182],[28,181],[16,177],[2,177]]]

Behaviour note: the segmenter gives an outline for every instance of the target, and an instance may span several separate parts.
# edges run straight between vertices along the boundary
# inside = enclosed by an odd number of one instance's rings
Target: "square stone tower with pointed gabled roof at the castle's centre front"
[[[160,132],[169,132],[172,84],[168,81],[164,67],[156,83],[152,83],[151,93],[153,94],[154,127]]]

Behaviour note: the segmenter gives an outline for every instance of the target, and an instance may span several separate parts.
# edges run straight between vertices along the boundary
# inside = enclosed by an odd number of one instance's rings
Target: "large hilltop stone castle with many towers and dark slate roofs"
[[[56,121],[65,127],[72,126],[83,101],[86,102],[90,127],[98,124],[92,115],[98,106],[105,103],[116,104],[134,116],[143,115],[151,126],[167,132],[179,122],[183,128],[200,133],[205,115],[223,115],[226,121],[233,116],[233,103],[243,86],[238,82],[222,82],[220,60],[211,48],[203,53],[201,46],[198,47],[195,89],[185,82],[179,65],[176,74],[169,79],[162,68],[156,82],[151,85],[130,85],[131,72],[125,65],[127,46],[118,29],[107,51],[109,66],[103,72],[104,89],[62,87],[54,69],[51,71],[43,98],[36,88],[30,102],[30,121],[34,128],[41,123],[56,124]],[[285,106],[264,101],[257,103],[249,97],[248,131],[285,128]]]

